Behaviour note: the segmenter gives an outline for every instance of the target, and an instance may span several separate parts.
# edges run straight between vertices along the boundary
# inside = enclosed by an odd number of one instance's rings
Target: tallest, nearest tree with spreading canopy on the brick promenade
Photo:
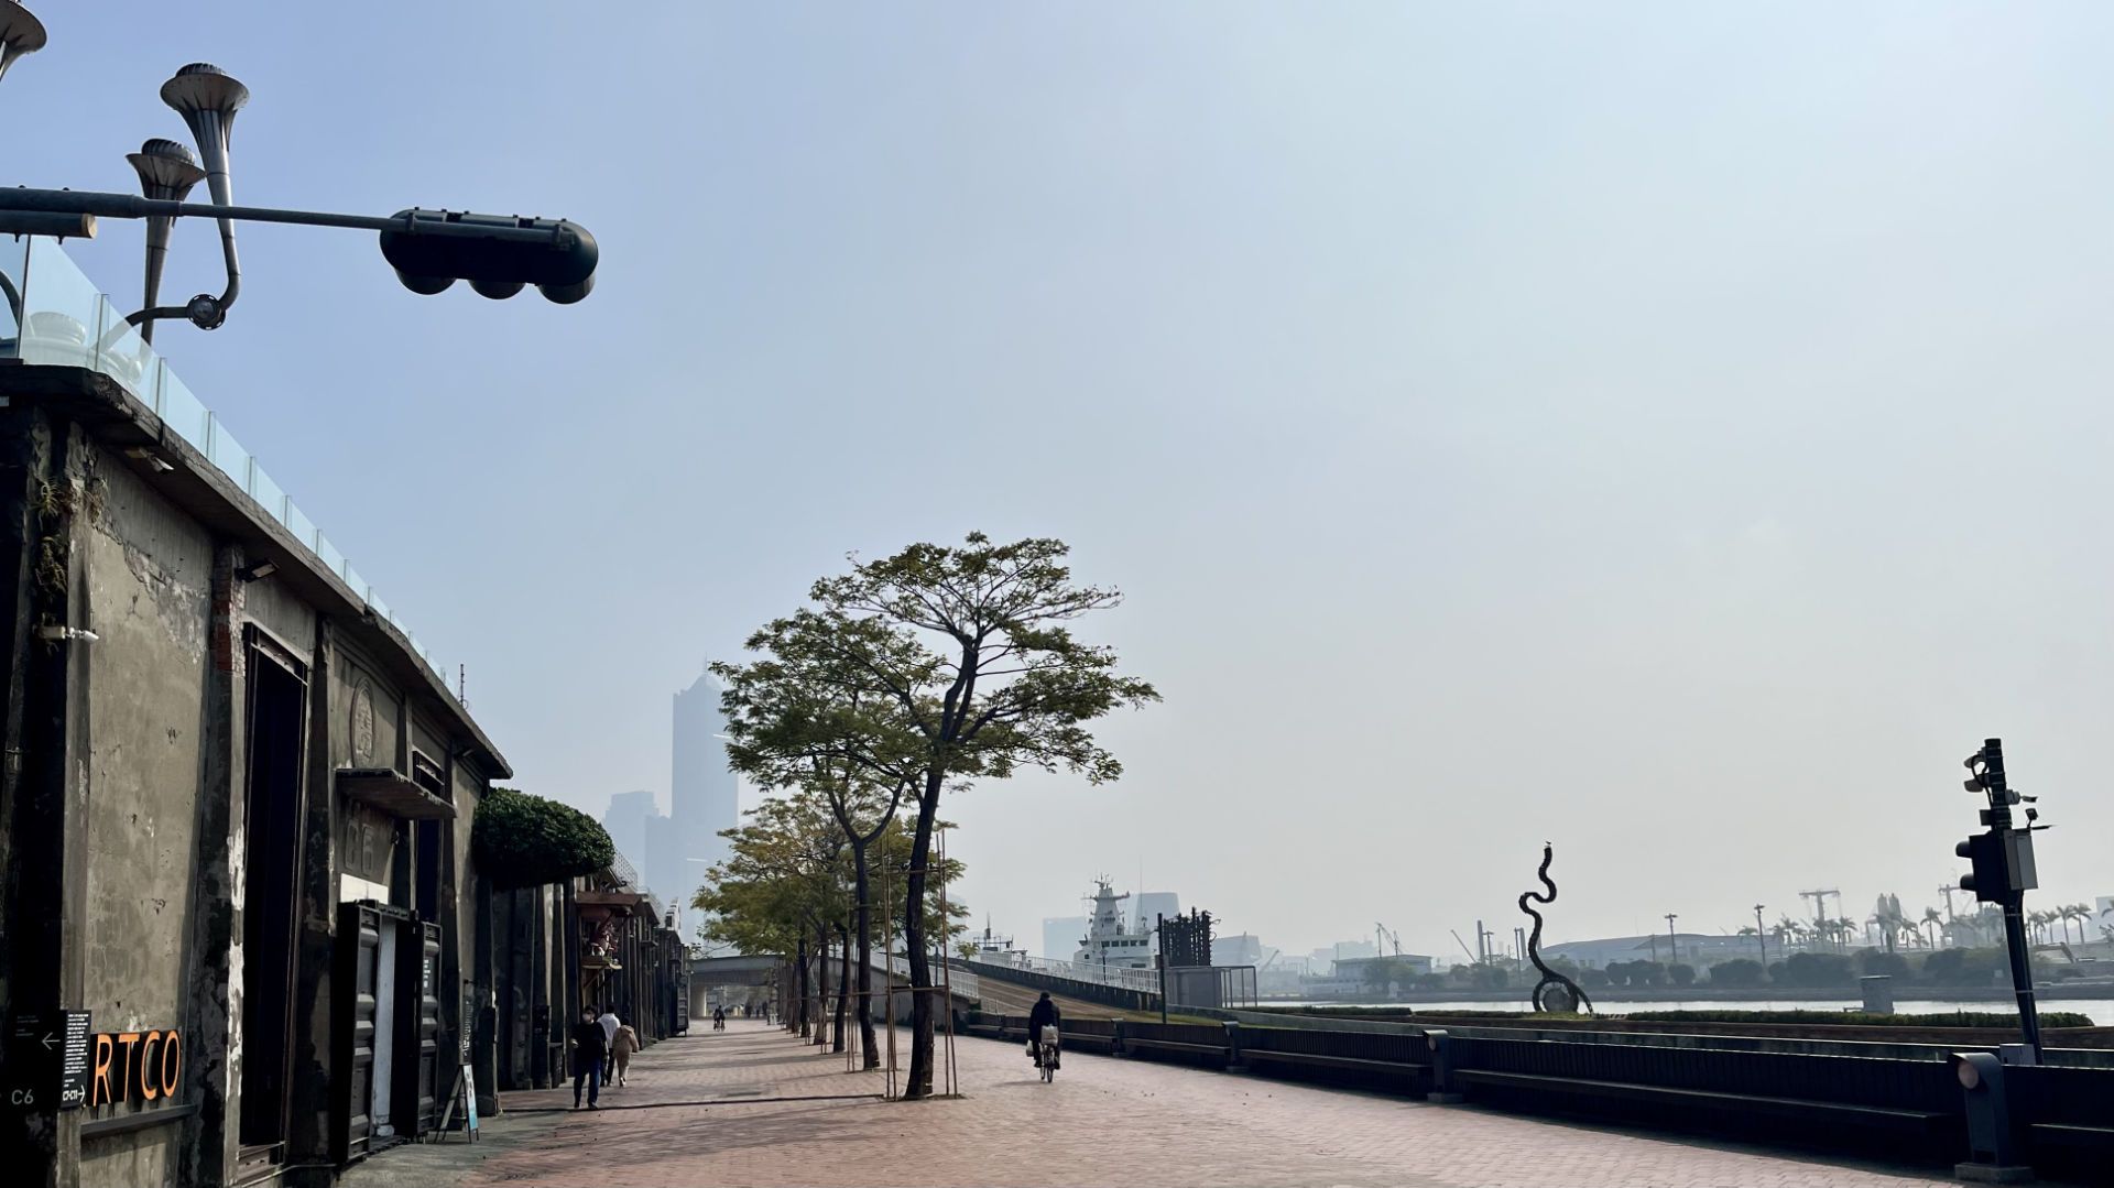
[[[905,877],[905,955],[911,972],[911,1061],[905,1097],[932,1093],[932,936],[926,905],[932,827],[941,793],[1021,767],[1074,772],[1099,784],[1123,774],[1089,723],[1120,706],[1156,702],[1152,685],[1116,672],[1116,653],[1080,643],[1070,624],[1116,607],[1123,596],[1078,586],[1070,547],[1030,537],[991,543],[970,533],[960,545],[917,543],[894,556],[854,564],[810,590],[810,607],[759,630],[755,666],[776,666],[812,691],[791,704],[791,721],[769,750],[774,761],[812,759],[799,744],[822,746],[831,761],[867,772],[873,788],[911,799],[911,854]],[[753,712],[729,668],[727,717]],[[797,676],[795,676],[797,674]],[[767,681],[759,676],[750,693]],[[822,710],[822,706],[835,706]],[[769,721],[769,714],[763,714]],[[731,731],[729,731],[731,734]]]

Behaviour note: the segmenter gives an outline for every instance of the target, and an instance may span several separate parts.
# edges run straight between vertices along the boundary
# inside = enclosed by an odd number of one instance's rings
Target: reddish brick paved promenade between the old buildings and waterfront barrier
[[[960,1101],[884,1103],[776,1027],[729,1021],[641,1055],[598,1112],[509,1093],[512,1127],[461,1184],[1355,1184],[1892,1186],[1943,1184],[1848,1163],[1634,1137],[1461,1106],[1175,1065],[1065,1057],[1042,1084],[1013,1044],[960,1040]],[[835,1097],[835,1099],[829,1099]],[[696,1101],[712,1101],[698,1106]],[[389,1152],[372,1161],[406,1161]],[[438,1169],[431,1169],[438,1171]],[[442,1180],[410,1180],[442,1182]]]

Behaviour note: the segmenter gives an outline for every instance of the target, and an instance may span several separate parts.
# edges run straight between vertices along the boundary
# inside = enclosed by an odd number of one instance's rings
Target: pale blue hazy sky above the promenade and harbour
[[[8,184],[129,190],[205,59],[237,201],[600,239],[560,309],[249,228],[163,330],[526,788],[666,793],[706,657],[981,528],[1167,698],[945,808],[1023,939],[1142,862],[1457,955],[1543,839],[1556,936],[1920,909],[1991,734],[2038,905],[2114,894],[2106,6],[32,8]],[[137,296],[137,224],[76,258]]]

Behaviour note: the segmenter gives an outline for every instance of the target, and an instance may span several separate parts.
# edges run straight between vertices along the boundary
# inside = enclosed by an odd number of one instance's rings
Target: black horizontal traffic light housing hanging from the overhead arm
[[[402,230],[383,230],[383,258],[414,294],[438,294],[455,281],[493,300],[535,285],[558,304],[594,290],[600,249],[579,224],[467,211],[408,209]]]

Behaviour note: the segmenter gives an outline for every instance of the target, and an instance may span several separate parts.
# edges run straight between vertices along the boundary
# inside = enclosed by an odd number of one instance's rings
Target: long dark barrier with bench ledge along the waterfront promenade
[[[972,1015],[972,1034],[1019,1038],[1025,1019]],[[1898,1044],[1903,1055],[1869,1055],[1877,1044],[1812,1040],[1814,1051],[1719,1046],[1723,1036],[1634,1036],[1550,1040],[1528,1027],[1389,1032],[1273,1027],[1247,1021],[1154,1023],[1065,1021],[1089,1051],[1239,1068],[1323,1084],[1389,1089],[1528,1114],[1588,1116],[1647,1131],[1687,1131],[1795,1148],[1862,1150],[1913,1163],[1968,1154],[1968,1097],[1951,1053],[1989,1044]],[[1347,1027],[1353,1021],[1342,1021]],[[1471,1032],[1471,1034],[1465,1034]],[[1748,1044],[1755,1040],[1731,1038]],[[1913,1055],[1909,1055],[1913,1053]],[[2074,1061],[2097,1055],[2051,1048]],[[2008,1125],[2042,1171],[2101,1180],[2114,1167],[2114,1068],[2078,1063],[2010,1065]],[[1964,1095],[1966,1093],[1966,1095]]]

